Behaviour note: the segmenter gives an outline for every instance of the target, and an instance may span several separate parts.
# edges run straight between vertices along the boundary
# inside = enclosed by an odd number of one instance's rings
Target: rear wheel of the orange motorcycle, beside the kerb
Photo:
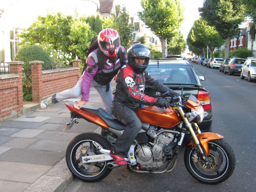
[[[96,146],[93,142],[100,145],[103,149],[111,149],[109,141],[100,134],[83,133],[71,140],[66,151],[66,162],[70,172],[77,178],[86,182],[100,181],[111,172],[111,169],[106,166],[107,161],[97,161],[87,164],[82,163],[82,156],[90,156],[100,153],[94,151]]]

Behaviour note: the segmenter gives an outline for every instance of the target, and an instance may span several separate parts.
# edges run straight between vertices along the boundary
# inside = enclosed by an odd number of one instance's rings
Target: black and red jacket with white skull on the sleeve
[[[129,64],[120,69],[116,83],[114,102],[127,103],[132,109],[138,108],[139,104],[156,105],[156,98],[143,93],[145,85],[161,93],[170,91],[167,86],[152,78],[146,70],[142,74],[135,73]]]

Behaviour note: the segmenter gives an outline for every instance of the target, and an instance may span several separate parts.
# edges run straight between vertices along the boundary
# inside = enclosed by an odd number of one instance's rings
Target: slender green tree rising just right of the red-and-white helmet
[[[130,16],[126,12],[125,6],[119,12],[119,16],[114,18],[114,26],[120,35],[121,45],[127,50],[133,38],[134,26],[129,23]]]

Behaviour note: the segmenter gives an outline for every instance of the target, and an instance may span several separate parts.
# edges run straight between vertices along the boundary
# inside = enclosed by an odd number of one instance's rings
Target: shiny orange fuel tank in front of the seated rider
[[[181,120],[172,108],[161,109],[156,106],[146,106],[136,110],[136,114],[143,123],[171,128]]]

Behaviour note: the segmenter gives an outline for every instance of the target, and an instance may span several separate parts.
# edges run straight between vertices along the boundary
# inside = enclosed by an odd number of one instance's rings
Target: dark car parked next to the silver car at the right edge
[[[228,75],[233,75],[234,73],[240,74],[245,60],[245,58],[231,58],[228,61],[228,64],[224,67],[224,73],[228,73]]]

